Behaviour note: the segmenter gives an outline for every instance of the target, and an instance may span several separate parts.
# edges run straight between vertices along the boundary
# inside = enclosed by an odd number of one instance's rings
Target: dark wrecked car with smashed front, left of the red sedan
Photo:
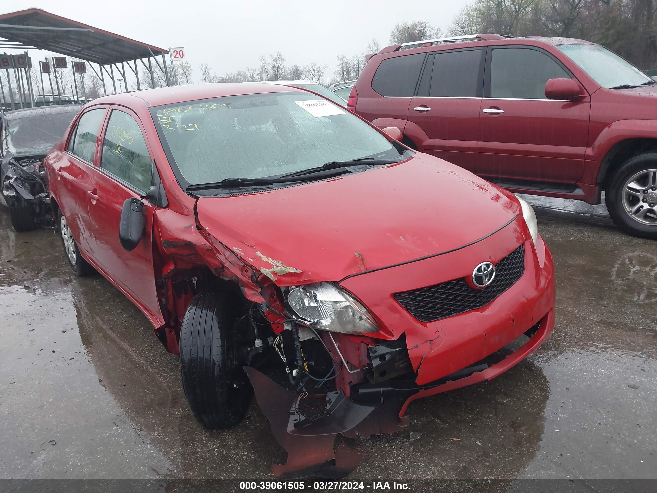
[[[53,226],[43,158],[62,138],[81,106],[0,113],[0,183],[16,231]]]

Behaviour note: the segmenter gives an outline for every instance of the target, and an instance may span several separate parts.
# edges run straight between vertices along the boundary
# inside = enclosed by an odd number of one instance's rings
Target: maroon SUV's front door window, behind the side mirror
[[[491,98],[547,99],[545,83],[572,76],[552,57],[530,48],[495,48],[491,60]]]

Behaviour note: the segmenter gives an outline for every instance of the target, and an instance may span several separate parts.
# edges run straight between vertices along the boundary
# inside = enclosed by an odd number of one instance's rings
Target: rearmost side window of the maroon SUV
[[[424,53],[383,60],[372,80],[372,89],[382,96],[413,97]]]

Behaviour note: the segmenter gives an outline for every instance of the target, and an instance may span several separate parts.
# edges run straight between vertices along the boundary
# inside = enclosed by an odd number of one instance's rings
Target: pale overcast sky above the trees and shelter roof
[[[221,75],[257,67],[260,55],[275,51],[286,65],[328,64],[330,79],[337,55],[363,53],[372,37],[390,44],[397,22],[428,19],[444,28],[471,1],[3,0],[0,13],[38,7],[160,48],[185,47],[194,82],[201,63]]]

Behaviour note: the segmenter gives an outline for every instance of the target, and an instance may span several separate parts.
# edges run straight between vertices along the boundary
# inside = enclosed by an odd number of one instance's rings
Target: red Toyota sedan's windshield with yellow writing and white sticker
[[[357,116],[305,91],[187,101],[156,106],[151,114],[171,165],[189,184],[400,156]]]

